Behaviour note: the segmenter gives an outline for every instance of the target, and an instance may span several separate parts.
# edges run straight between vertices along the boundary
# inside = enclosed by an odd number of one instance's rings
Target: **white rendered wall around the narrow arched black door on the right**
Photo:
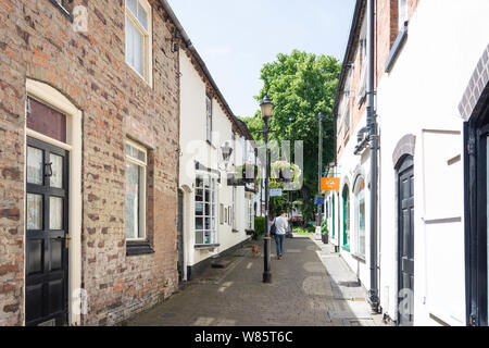
[[[416,136],[415,325],[465,324],[463,122],[457,105],[489,42],[489,1],[421,1],[409,38],[377,91],[380,299],[397,319],[397,186],[392,153]],[[448,161],[462,156],[449,165]],[[444,221],[443,221],[444,220]]]

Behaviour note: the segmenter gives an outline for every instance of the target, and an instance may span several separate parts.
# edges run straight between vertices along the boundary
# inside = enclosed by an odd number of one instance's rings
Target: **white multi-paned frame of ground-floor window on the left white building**
[[[197,181],[199,178],[201,178],[203,182],[205,179],[209,179],[210,183],[211,183],[211,188],[210,189],[205,188],[205,185],[202,185],[202,187],[198,187],[197,186]],[[198,190],[202,190],[202,200],[201,201],[197,200],[197,191]],[[211,194],[211,201],[209,203],[209,204],[211,204],[211,207],[210,207],[210,214],[209,215],[205,214],[205,204],[208,204],[206,200],[205,200],[205,192],[206,191],[209,191]],[[217,177],[215,177],[214,175],[211,175],[209,173],[203,173],[203,172],[202,173],[197,173],[197,176],[196,176],[195,207],[193,207],[193,209],[195,209],[195,225],[196,225],[196,246],[205,247],[205,246],[209,246],[209,245],[216,245],[216,244],[218,244],[218,240],[217,240],[217,219],[218,219],[218,216],[217,216],[218,215],[218,213],[217,213],[217,209],[218,209],[217,201],[218,201],[218,199],[217,199]],[[198,203],[202,203],[203,204],[202,206],[202,215],[197,215],[197,204]],[[212,209],[212,206],[214,206],[214,210]],[[198,229],[197,228],[197,219],[202,219],[202,229]],[[205,220],[206,219],[211,220],[211,228],[205,228]],[[214,219],[214,228],[212,228],[212,220],[213,219]],[[203,244],[197,243],[197,235],[199,233],[203,234],[203,240],[204,240]],[[205,243],[205,234],[206,233],[210,233],[210,235],[211,235],[210,243],[208,243],[208,244]]]

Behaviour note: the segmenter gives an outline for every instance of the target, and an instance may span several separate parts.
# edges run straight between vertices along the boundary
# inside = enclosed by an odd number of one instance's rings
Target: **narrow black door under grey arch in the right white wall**
[[[399,325],[413,325],[414,166],[408,157],[399,169]]]

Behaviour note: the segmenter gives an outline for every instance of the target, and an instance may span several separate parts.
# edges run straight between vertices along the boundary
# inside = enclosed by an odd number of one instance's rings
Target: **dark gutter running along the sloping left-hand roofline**
[[[217,87],[217,84],[215,83],[214,78],[212,77],[211,72],[209,71],[209,69],[205,65],[204,61],[202,60],[202,58],[200,57],[200,54],[197,51],[196,47],[193,46],[192,41],[190,40],[190,37],[188,36],[187,32],[185,32],[184,27],[181,26],[181,23],[178,21],[175,12],[173,12],[173,9],[170,5],[168,1],[160,0],[160,3],[163,5],[163,9],[168,14],[170,20],[173,22],[173,24],[175,25],[177,30],[180,33],[181,38],[184,40],[184,44],[186,46],[186,49],[188,49],[192,53],[193,58],[197,60],[197,63],[202,69],[203,73],[205,74],[205,77],[211,83],[212,88],[214,88],[215,92],[220,97],[221,101],[224,104],[224,108],[226,109],[226,111],[230,115],[230,119],[231,119],[233,123],[239,129],[239,132],[241,132],[241,135],[246,137],[247,136],[247,132],[243,130],[242,125],[240,125],[238,117],[236,117],[235,113],[233,112],[233,110],[230,109],[230,107],[227,103],[226,99],[224,98],[223,94],[221,92],[220,88]],[[246,128],[248,129],[247,126],[246,126]],[[249,133],[249,130],[248,130],[248,133]]]

